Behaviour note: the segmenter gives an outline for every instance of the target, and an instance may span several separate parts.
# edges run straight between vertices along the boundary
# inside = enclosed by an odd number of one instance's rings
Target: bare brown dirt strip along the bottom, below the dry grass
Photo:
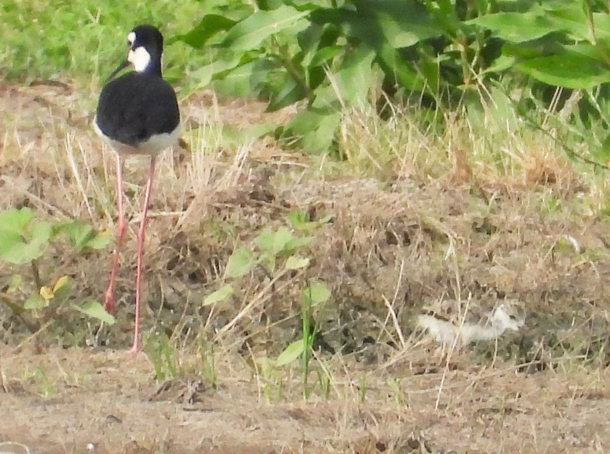
[[[401,398],[376,372],[364,400],[342,377],[340,397],[267,403],[246,370],[221,367],[226,378],[206,389],[196,379],[158,383],[144,354],[1,353],[2,453],[576,453],[610,444],[607,371],[469,367],[443,380],[442,369],[418,374],[403,359],[392,371]]]

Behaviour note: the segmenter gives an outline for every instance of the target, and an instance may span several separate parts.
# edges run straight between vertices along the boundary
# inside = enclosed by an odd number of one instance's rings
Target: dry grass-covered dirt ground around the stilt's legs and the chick
[[[0,87],[2,209],[31,206],[98,229],[112,223],[112,154],[90,130],[91,103],[81,97],[67,86]],[[291,114],[263,110],[218,104],[209,94],[182,103],[194,143],[211,140],[213,123],[243,129]],[[30,320],[38,329],[28,330],[2,306],[0,454],[609,449],[608,222],[583,207],[586,183],[570,165],[538,153],[523,176],[503,181],[479,173],[465,182],[476,171],[460,164],[447,178],[397,175],[381,184],[313,179],[303,172],[320,162],[273,141],[229,148],[163,157],[147,238],[145,334],[217,345],[213,384],[195,347],[174,352],[190,366],[170,378],[159,377],[154,355],[123,350],[129,267],[119,276],[113,327],[62,309],[43,314],[48,323]],[[143,182],[138,165],[126,172],[132,213]],[[298,283],[280,283],[256,307],[246,297],[216,311],[198,305],[217,288],[235,243],[284,222],[292,209],[334,216],[310,250],[309,276],[325,278],[336,303],[321,322],[315,361],[329,391],[319,380],[307,399],[298,369],[262,369],[298,334],[298,307],[287,303]],[[128,242],[124,256],[133,248]],[[107,253],[71,256],[59,245],[40,267],[49,281],[67,273],[77,294],[99,298],[107,264]],[[15,298],[8,290],[15,272],[0,270],[4,300]],[[253,295],[264,284],[254,275],[240,290]],[[526,325],[445,361],[431,339],[416,336],[414,314],[468,293],[476,301],[518,298]],[[229,320],[232,329],[223,330]]]

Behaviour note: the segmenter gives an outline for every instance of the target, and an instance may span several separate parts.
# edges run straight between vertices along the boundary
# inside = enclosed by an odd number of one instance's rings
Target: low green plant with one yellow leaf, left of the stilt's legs
[[[82,253],[106,248],[110,243],[109,233],[96,232],[81,221],[52,223],[35,220],[35,217],[36,212],[27,207],[0,213],[0,260],[20,267],[29,264],[33,281],[27,283],[23,273],[16,273],[1,301],[20,316],[30,330],[40,326],[38,321],[46,322],[46,317],[57,317],[58,309],[65,309],[65,306],[102,322],[114,323],[114,317],[97,301],[66,304],[72,295],[70,277],[62,274],[59,278],[42,278],[39,265],[49,245],[60,234],[68,238],[77,253]],[[22,302],[13,294],[25,294],[26,297]],[[53,311],[48,310],[51,306]],[[26,313],[30,317],[25,317]]]

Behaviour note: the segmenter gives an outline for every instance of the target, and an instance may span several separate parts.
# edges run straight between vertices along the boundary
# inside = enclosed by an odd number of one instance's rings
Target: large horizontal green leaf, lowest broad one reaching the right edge
[[[515,68],[558,87],[588,90],[610,82],[610,71],[599,60],[575,52],[529,59]]]

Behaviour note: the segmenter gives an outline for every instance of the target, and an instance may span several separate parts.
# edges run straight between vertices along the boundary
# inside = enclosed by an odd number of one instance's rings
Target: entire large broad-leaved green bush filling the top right
[[[505,76],[509,87],[500,87],[521,93],[524,115],[548,107],[549,88],[565,87],[586,90],[583,112],[610,121],[600,90],[610,82],[606,2],[274,0],[230,11],[212,7],[176,37],[207,59],[193,79],[267,99],[269,110],[300,104],[274,134],[312,153],[339,147],[343,115],[364,103],[416,99],[429,121],[437,109],[481,109]],[[597,145],[605,163],[610,137]]]

